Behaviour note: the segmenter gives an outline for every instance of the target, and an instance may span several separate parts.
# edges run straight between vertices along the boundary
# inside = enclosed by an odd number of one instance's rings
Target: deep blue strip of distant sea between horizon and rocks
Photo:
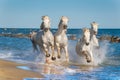
[[[31,31],[38,31],[37,28],[0,28],[0,33],[23,33],[23,34],[29,34]],[[56,32],[57,29],[51,29],[53,33]],[[98,30],[98,36],[100,35],[112,35],[112,36],[120,36],[120,29],[99,29]],[[81,29],[68,29],[67,34],[76,34],[79,35],[81,33]]]

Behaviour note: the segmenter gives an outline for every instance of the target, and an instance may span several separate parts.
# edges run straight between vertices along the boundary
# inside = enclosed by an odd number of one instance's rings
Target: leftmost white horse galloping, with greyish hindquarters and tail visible
[[[45,53],[46,57],[50,57],[49,50],[52,50],[52,59],[55,60],[54,56],[54,36],[50,31],[50,18],[48,16],[42,16],[41,31],[33,32],[31,34],[31,41],[33,48],[37,50],[37,45],[40,50]]]

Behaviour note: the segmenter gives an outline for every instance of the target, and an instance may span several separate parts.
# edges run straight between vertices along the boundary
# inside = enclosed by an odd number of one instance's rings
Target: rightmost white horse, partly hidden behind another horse
[[[96,22],[91,23],[91,31],[90,31],[90,43],[93,47],[99,47],[99,42],[96,37],[98,33],[98,24]]]

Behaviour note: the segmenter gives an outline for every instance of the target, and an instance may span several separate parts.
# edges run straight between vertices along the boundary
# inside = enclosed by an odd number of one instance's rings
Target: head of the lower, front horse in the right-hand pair
[[[88,28],[83,29],[83,40],[85,44],[88,46],[90,43],[90,30]]]

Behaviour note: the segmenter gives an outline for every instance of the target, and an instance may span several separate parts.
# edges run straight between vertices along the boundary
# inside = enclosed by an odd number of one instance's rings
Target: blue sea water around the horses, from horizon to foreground
[[[29,34],[33,30],[38,31],[38,29],[1,28],[0,33]],[[56,29],[52,29],[51,31],[55,33]],[[81,36],[81,29],[68,29],[67,35],[70,34],[75,34],[77,38],[79,38]],[[99,29],[97,36],[99,37],[102,35],[120,37],[120,29]],[[76,52],[74,51],[75,44],[76,41],[69,40],[69,53],[71,56],[71,61],[76,61],[79,63],[79,60],[76,60]],[[104,55],[105,58],[103,60],[103,58],[100,57],[101,62],[97,65],[97,67],[87,66],[87,68],[85,68],[84,66],[78,64],[68,65],[67,67],[70,68],[70,70],[67,70],[66,67],[59,66],[60,68],[57,67],[56,69],[62,71],[62,74],[54,74],[52,72],[51,74],[43,73],[45,76],[43,79],[26,78],[25,80],[120,80],[120,43],[100,41],[100,47],[101,51],[99,51],[99,53]],[[41,55],[42,57],[38,57],[38,55],[40,54],[33,52],[32,44],[29,38],[0,37],[0,58],[2,59],[12,60],[20,63],[29,63],[29,67],[22,68],[41,73],[41,68],[45,67],[32,65],[37,64],[36,62],[38,61],[44,63],[44,59],[42,59],[43,55]]]

